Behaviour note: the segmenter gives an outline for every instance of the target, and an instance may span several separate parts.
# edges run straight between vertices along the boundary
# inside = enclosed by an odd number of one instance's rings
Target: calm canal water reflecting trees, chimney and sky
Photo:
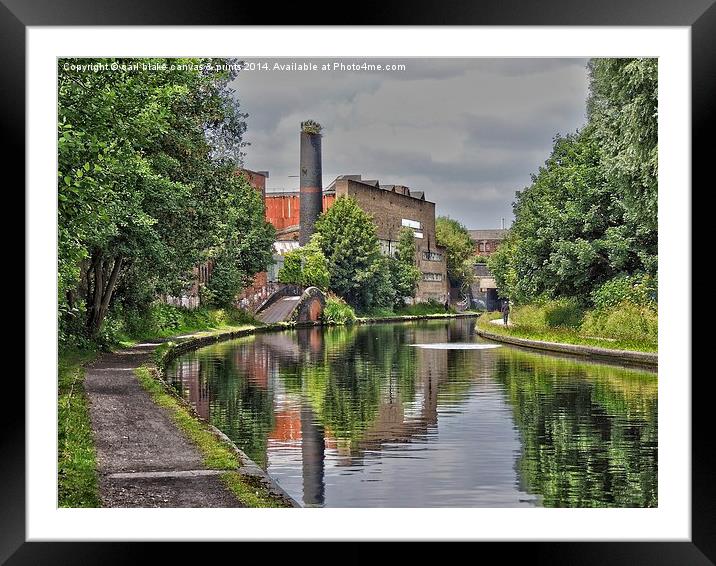
[[[168,376],[305,506],[658,503],[656,374],[490,343],[474,319],[258,334]]]

